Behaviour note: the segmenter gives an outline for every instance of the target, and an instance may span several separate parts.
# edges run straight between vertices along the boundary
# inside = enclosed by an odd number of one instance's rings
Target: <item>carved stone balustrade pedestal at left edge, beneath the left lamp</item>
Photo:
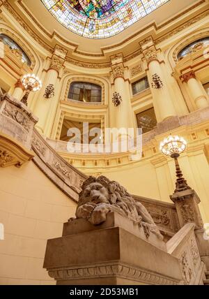
[[[23,103],[9,96],[0,98],[0,167],[22,166],[33,158],[33,128],[38,119]]]

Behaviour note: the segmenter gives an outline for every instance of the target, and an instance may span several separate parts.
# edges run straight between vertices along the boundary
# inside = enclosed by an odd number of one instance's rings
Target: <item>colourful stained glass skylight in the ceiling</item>
[[[169,0],[41,0],[56,20],[87,38],[114,36]]]

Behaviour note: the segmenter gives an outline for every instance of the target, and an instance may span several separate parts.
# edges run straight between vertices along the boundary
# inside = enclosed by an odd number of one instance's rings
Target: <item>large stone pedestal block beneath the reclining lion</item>
[[[150,232],[110,212],[93,226],[84,219],[64,224],[63,237],[48,240],[44,268],[57,284],[180,284],[178,258]]]

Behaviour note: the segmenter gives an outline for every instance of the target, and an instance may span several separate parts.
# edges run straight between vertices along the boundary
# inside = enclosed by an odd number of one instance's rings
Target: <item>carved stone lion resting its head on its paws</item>
[[[109,212],[121,214],[142,226],[147,238],[152,232],[162,240],[160,231],[144,205],[134,200],[121,184],[104,176],[89,177],[79,194],[77,219],[87,219],[91,224],[98,225],[106,220]]]

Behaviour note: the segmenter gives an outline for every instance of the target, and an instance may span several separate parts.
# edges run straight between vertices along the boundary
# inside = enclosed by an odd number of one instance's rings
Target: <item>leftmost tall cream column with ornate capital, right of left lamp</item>
[[[63,52],[61,52],[61,48],[55,49],[49,68],[47,69],[45,82],[42,82],[42,94],[40,94],[40,98],[34,108],[34,112],[39,118],[36,127],[40,133],[43,133],[47,137],[51,136],[56,108],[59,103],[59,93],[57,91],[60,82],[59,74],[65,61],[62,54]],[[52,98],[46,97],[46,90],[49,85],[54,88],[54,96],[52,96]]]

